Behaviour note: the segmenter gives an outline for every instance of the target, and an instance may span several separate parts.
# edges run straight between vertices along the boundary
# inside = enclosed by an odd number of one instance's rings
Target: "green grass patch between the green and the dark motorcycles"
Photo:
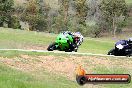
[[[86,40],[82,46],[80,46],[80,52],[91,52],[91,53],[100,53],[106,54],[110,49],[114,47],[114,43],[111,41],[104,42],[103,40]]]

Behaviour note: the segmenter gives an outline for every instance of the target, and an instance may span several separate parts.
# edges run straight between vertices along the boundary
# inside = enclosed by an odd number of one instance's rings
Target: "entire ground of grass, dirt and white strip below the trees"
[[[88,74],[130,74],[132,57],[108,56],[114,38],[85,38],[78,52],[47,51],[56,34],[0,28],[0,88],[131,88],[130,84],[76,83],[76,67]]]

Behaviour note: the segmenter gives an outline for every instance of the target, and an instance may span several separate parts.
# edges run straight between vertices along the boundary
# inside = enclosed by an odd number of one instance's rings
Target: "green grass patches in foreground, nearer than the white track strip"
[[[20,55],[29,55],[31,57],[37,58],[37,56],[49,56],[52,55],[56,59],[60,60],[60,56],[69,58],[68,54],[56,54],[56,53],[38,53],[38,52],[21,52],[21,51],[0,51],[0,57],[7,58],[13,58],[13,57],[19,57]],[[72,55],[76,57],[82,57],[84,55]],[[89,58],[93,57],[93,59],[96,57],[99,60],[101,58],[107,58],[110,61],[115,62],[118,60],[119,62],[122,61],[122,59],[126,59],[127,61],[131,61],[131,58],[114,58],[114,57],[100,57],[100,56],[87,56],[83,61],[86,63],[84,64],[85,67],[89,70],[89,67],[93,65],[93,63],[96,62],[90,62]],[[20,58],[18,58],[20,59]],[[63,58],[66,59],[66,58]],[[21,61],[22,58],[21,58]],[[63,60],[61,60],[63,62]],[[36,60],[37,62],[37,60]],[[125,63],[125,62],[124,62]],[[92,73],[94,74],[130,74],[132,75],[131,69],[121,68],[118,66],[120,63],[115,63],[111,65],[110,67],[105,67],[103,64],[97,64],[94,66],[94,68],[91,69]],[[91,73],[91,72],[87,72]],[[73,73],[74,74],[74,73]],[[48,79],[48,80],[47,80]],[[99,84],[96,85],[96,87],[103,87],[103,88],[130,88],[132,83],[130,84]],[[89,84],[85,85],[86,88],[89,87]],[[82,86],[82,88],[85,86]],[[94,85],[93,85],[94,86]],[[78,88],[80,87],[75,81],[68,80],[67,78],[63,77],[59,74],[53,74],[49,73],[48,71],[38,70],[34,73],[34,75],[31,75],[30,73],[25,73],[19,70],[15,70],[12,68],[9,68],[4,65],[0,65],[0,88]]]

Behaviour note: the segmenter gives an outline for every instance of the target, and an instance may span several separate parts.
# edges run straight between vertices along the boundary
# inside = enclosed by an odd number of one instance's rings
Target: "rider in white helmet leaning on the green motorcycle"
[[[69,43],[69,45],[70,45],[70,48],[73,50],[74,48],[77,48],[78,46],[80,46],[81,44],[82,44],[82,42],[83,42],[83,36],[81,35],[81,33],[80,32],[75,32],[75,33],[73,33],[73,32],[70,32],[70,31],[64,31],[64,32],[62,32],[64,35],[66,35],[66,37],[67,37],[67,42]],[[72,39],[73,39],[73,41],[74,42],[72,42],[71,41],[71,39],[68,37],[68,36],[72,36]],[[79,38],[79,40],[78,40],[78,42],[76,43],[75,41],[75,38],[76,37],[78,37]]]

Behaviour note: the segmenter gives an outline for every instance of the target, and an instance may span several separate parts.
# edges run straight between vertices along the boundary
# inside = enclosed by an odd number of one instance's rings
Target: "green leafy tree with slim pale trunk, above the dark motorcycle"
[[[101,20],[104,21],[106,29],[110,29],[115,36],[117,29],[127,17],[125,0],[102,0],[100,10]]]

